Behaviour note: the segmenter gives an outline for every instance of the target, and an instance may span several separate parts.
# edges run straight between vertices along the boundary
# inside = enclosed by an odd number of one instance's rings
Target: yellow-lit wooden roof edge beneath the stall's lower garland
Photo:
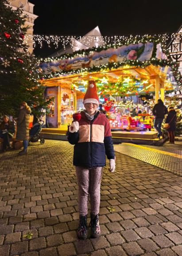
[[[85,72],[81,74],[65,75],[58,78],[49,78],[43,80],[45,86],[61,86],[64,88],[70,88],[72,84],[79,81],[88,81],[89,79],[97,80],[98,78],[107,78],[108,82],[116,83],[120,81],[120,78],[142,78],[148,81],[149,91],[155,90],[155,78],[159,76],[160,83],[164,84],[165,90],[173,89],[171,81],[167,78],[169,67],[162,68],[160,66],[150,65],[145,68],[139,68],[136,66],[123,66],[112,70],[103,70],[99,72]],[[77,91],[79,94],[79,92]]]

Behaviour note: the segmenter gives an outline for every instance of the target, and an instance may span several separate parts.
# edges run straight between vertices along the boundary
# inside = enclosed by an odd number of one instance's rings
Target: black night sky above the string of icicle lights
[[[29,0],[35,4],[34,34],[85,35],[97,25],[102,35],[177,32],[182,24],[182,0]],[[60,47],[62,48],[62,47]],[[59,49],[60,49],[59,48]],[[59,50],[57,49],[57,50]],[[54,48],[36,48],[48,56]]]

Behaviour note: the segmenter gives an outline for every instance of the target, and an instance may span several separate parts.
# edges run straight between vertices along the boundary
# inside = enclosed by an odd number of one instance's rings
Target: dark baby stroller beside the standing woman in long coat
[[[45,140],[41,138],[41,135],[40,135],[43,123],[44,123],[43,120],[37,120],[37,122],[30,129],[29,135],[30,135],[31,142],[37,142],[40,139],[40,144],[44,144]]]

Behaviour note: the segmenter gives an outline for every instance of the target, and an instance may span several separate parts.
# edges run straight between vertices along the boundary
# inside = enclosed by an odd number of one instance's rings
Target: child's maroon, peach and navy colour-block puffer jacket
[[[92,121],[81,112],[78,132],[68,132],[68,141],[74,146],[75,166],[105,166],[105,155],[114,159],[111,128],[105,114],[98,112]]]

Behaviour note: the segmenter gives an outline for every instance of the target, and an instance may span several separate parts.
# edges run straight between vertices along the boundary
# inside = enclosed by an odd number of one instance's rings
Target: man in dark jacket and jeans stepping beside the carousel
[[[167,107],[164,105],[161,99],[159,99],[157,101],[157,104],[154,105],[152,113],[155,116],[154,127],[158,132],[157,137],[160,138],[160,136],[163,136],[163,132],[161,131],[161,125],[163,123],[165,115],[168,113]]]

